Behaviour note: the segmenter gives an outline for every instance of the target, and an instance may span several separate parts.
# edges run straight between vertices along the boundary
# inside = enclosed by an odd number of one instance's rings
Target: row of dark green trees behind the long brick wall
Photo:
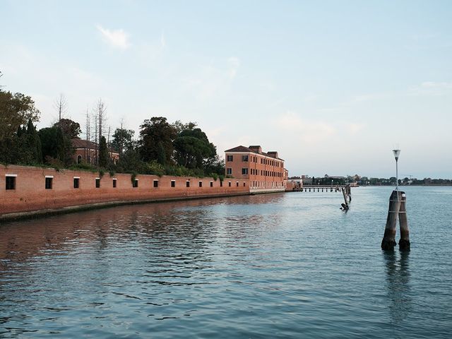
[[[110,129],[105,131],[106,106],[102,100],[97,103],[95,114],[86,113],[85,139],[93,141],[95,155],[89,163],[77,164],[72,141],[80,138],[81,125],[64,118],[64,97],[60,96],[56,104],[57,122],[37,130],[40,111],[32,98],[0,86],[0,162],[220,179],[225,172],[215,145],[194,122],[169,123],[165,117],[151,117],[143,121],[137,138],[133,129],[125,129],[121,123],[110,140]],[[119,153],[119,159],[114,160],[112,152]]]

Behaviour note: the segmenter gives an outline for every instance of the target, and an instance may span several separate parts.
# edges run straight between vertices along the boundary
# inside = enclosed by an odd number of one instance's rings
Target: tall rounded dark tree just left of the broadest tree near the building
[[[168,124],[167,118],[152,117],[146,119],[140,126],[140,153],[144,161],[158,160],[159,149],[165,150],[165,163],[172,162],[174,146],[172,142],[176,137],[176,129]],[[162,146],[159,145],[162,144]],[[163,164],[162,164],[163,165]]]

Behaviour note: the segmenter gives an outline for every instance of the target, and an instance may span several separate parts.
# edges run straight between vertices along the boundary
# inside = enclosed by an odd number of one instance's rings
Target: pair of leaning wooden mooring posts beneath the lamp
[[[393,191],[389,198],[388,219],[384,230],[381,249],[393,250],[396,246],[397,219],[400,223],[400,251],[410,251],[410,230],[408,230],[408,218],[406,208],[407,196],[403,191]]]

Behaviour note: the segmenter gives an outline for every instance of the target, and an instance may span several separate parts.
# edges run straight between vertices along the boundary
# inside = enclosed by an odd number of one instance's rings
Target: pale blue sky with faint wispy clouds
[[[38,127],[196,121],[290,176],[452,178],[452,1],[0,0],[0,85]],[[83,137],[83,136],[82,136]]]

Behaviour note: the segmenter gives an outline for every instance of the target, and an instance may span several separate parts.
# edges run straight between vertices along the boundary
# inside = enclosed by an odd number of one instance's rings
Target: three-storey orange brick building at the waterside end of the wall
[[[278,152],[262,152],[259,145],[225,150],[227,177],[247,179],[251,193],[285,191],[288,172]]]

